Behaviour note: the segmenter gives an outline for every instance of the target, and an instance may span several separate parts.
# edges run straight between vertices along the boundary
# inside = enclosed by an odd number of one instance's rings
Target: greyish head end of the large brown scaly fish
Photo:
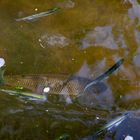
[[[82,104],[91,104],[92,102],[97,101],[100,102],[100,100],[103,100],[102,96],[104,96],[104,92],[108,87],[105,83],[99,82],[90,86],[85,92],[84,88],[90,81],[91,79],[84,77],[72,77],[62,89],[60,94],[66,99],[70,96],[72,100],[76,99]]]

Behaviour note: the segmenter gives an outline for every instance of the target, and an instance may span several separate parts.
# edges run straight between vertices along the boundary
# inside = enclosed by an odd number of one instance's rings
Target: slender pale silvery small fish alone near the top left
[[[38,14],[34,14],[34,15],[31,15],[31,16],[27,16],[27,17],[23,17],[23,18],[17,18],[15,19],[16,21],[35,21],[41,17],[45,17],[45,16],[49,16],[49,15],[52,15],[56,12],[58,12],[60,10],[59,7],[55,7],[55,8],[52,8],[46,12],[41,12],[41,13],[38,13]]]

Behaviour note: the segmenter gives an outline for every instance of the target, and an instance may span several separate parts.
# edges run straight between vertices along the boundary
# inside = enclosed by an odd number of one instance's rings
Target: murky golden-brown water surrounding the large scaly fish
[[[93,134],[124,111],[139,109],[140,5],[135,2],[0,1],[0,57],[6,61],[5,76],[79,74],[96,78],[118,59],[125,60],[104,81],[109,89],[105,98],[112,96],[113,108],[34,102],[1,93],[1,139],[53,140],[68,134],[75,140]],[[15,20],[56,6],[62,9],[39,20]]]

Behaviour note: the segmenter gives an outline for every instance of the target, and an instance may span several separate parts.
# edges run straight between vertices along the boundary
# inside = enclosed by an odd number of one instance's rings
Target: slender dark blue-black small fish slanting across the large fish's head
[[[110,69],[108,69],[105,73],[101,74],[99,77],[97,77],[95,80],[93,80],[91,83],[87,84],[84,88],[84,92],[90,87],[93,86],[94,84],[97,84],[100,81],[105,80],[108,78],[113,72],[115,72],[122,64],[123,64],[124,59],[120,59],[117,61]]]

